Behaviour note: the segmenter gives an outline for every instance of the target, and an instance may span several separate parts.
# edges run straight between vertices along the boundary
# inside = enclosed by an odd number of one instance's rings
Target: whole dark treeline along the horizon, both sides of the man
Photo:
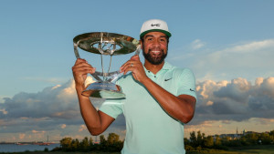
[[[190,133],[190,138],[184,138],[184,149],[203,150],[203,149],[228,149],[229,147],[242,147],[252,145],[269,145],[274,144],[274,130],[269,133],[249,132],[245,135],[240,134],[238,137],[231,138],[229,136],[220,137],[206,136],[201,131],[193,131]],[[60,147],[53,149],[53,151],[104,151],[104,152],[120,152],[123,147],[123,141],[120,140],[119,135],[110,133],[105,139],[104,135],[100,135],[100,142],[94,143],[93,139],[87,137],[80,140],[64,138],[60,140]]]

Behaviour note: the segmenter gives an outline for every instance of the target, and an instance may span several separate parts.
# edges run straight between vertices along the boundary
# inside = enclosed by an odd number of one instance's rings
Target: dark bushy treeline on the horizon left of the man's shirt
[[[105,152],[120,152],[123,146],[123,141],[119,139],[119,135],[110,133],[105,139],[104,135],[100,135],[100,144],[94,143],[93,139],[87,137],[79,141],[79,139],[64,138],[60,140],[60,147],[53,151],[105,151]]]

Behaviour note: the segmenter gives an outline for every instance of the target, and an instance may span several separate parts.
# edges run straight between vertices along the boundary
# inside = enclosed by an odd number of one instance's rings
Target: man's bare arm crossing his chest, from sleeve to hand
[[[196,99],[189,95],[174,96],[153,82],[146,76],[139,56],[132,56],[132,59],[121,67],[121,72],[124,74],[128,71],[132,71],[132,76],[146,87],[171,117],[183,123],[189,122],[194,117]]]

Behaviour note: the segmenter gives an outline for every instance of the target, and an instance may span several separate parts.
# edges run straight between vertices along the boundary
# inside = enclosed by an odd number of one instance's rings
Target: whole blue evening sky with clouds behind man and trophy
[[[109,32],[139,39],[142,23],[153,18],[166,21],[172,33],[166,61],[195,74],[195,117],[184,125],[184,137],[198,130],[205,135],[273,130],[273,5],[270,0],[1,0],[0,141],[91,137],[71,72],[73,38]],[[100,67],[100,56],[80,50],[79,55]],[[131,56],[114,56],[111,69]],[[101,101],[95,99],[94,106]],[[110,132],[124,138],[123,116],[103,135]]]

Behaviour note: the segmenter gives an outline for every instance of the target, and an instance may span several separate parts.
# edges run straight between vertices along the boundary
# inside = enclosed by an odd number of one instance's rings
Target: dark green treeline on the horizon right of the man
[[[220,138],[216,136],[207,136],[201,131],[190,133],[189,139],[184,139],[184,148],[186,150],[194,149],[228,149],[229,147],[242,147],[252,145],[269,145],[274,143],[274,130],[269,133],[251,132],[239,137],[231,138],[229,136]]]

